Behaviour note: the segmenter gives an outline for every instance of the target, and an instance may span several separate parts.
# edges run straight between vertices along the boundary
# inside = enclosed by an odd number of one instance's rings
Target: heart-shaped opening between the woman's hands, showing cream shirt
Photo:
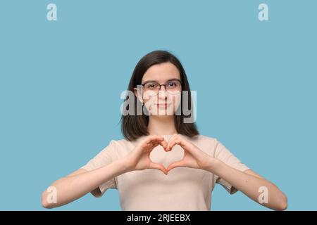
[[[166,141],[165,137],[164,139]],[[166,144],[168,145],[168,141],[166,141]],[[178,144],[173,146],[173,148],[168,152],[164,150],[163,146],[159,145],[156,146],[156,148],[154,148],[154,150],[150,153],[151,161],[162,164],[166,169],[168,168],[168,165],[173,162],[180,161],[182,158],[184,158],[184,149]]]

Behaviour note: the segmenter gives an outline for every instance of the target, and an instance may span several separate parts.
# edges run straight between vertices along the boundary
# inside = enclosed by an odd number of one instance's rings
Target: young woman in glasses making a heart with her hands
[[[122,116],[125,139],[111,140],[87,165],[51,184],[56,202],[44,191],[43,207],[65,205],[89,192],[100,197],[116,188],[123,210],[210,210],[218,183],[230,194],[242,191],[273,210],[287,208],[277,186],[186,120],[192,117],[192,97],[173,54],[153,51],[139,60],[128,91],[132,104],[125,105],[129,113]]]

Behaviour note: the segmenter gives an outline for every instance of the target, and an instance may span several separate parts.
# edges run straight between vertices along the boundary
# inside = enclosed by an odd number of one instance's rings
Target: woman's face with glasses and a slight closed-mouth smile
[[[182,86],[180,72],[173,63],[152,65],[144,73],[142,84],[142,102],[149,115],[175,115],[180,105]]]

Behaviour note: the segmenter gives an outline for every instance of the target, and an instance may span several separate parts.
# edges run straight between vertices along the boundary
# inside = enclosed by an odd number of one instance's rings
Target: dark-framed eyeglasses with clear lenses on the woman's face
[[[170,79],[165,84],[159,84],[158,82],[148,81],[142,84],[144,91],[151,96],[156,96],[161,90],[161,86],[164,86],[168,94],[179,94],[182,89],[182,82],[179,79]]]

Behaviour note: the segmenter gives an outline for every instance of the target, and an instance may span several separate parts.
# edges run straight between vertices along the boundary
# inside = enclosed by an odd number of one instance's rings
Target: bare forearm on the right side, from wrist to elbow
[[[228,183],[237,188],[237,190],[242,191],[256,203],[273,210],[285,210],[287,207],[287,197],[277,186],[266,179],[241,172],[216,158],[210,158],[209,167],[206,170],[228,181]],[[267,203],[259,202],[261,187],[268,190]]]

